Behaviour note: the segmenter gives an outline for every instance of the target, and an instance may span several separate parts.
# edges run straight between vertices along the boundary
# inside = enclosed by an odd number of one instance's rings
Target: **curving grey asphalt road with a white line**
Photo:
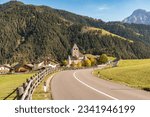
[[[103,80],[93,69],[62,71],[51,82],[54,100],[148,100],[150,93]]]

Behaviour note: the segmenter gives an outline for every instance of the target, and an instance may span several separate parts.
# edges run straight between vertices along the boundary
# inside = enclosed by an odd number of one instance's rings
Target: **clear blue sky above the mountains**
[[[9,0],[0,0],[0,4]],[[150,0],[20,0],[27,4],[47,5],[104,21],[121,21],[135,9],[150,11]]]

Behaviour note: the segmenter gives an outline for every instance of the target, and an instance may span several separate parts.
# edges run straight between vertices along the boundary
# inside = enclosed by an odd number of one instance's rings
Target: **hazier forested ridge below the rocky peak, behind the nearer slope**
[[[121,22],[109,22],[102,26],[103,29],[119,36],[150,44],[150,26],[143,24],[124,24]]]

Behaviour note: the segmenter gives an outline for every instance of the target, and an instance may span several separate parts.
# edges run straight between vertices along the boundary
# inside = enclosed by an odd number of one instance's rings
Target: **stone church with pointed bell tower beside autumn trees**
[[[70,67],[72,63],[78,64],[87,59],[87,57],[80,52],[76,44],[74,44],[71,54],[71,56],[68,56],[68,67]]]

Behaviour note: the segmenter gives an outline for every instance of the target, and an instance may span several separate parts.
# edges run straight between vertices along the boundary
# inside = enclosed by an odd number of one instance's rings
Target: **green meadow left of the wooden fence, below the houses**
[[[34,73],[30,74],[14,74],[0,75],[0,100],[3,100],[7,95],[13,92],[14,89],[22,85],[27,78],[30,78]],[[16,92],[8,99],[12,100]]]

